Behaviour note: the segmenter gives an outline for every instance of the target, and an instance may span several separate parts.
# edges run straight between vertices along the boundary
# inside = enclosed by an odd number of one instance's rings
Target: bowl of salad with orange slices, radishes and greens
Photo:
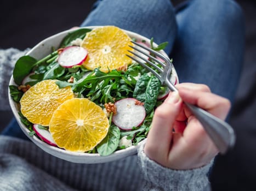
[[[131,41],[167,56],[166,43],[115,26],[93,26],[55,34],[20,57],[9,102],[30,140],[75,163],[135,154],[169,90],[126,56],[133,51]],[[170,80],[178,83],[174,68]]]

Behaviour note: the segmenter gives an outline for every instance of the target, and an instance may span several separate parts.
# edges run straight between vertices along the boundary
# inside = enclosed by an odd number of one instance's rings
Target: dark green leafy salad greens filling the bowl
[[[83,39],[89,31],[91,29],[82,28],[67,34],[61,41],[60,48],[69,46],[71,41],[77,38]],[[152,49],[157,51],[164,49],[167,45],[167,43],[162,43],[153,47],[153,38],[150,44]],[[58,50],[53,51],[39,61],[31,56],[21,57],[16,62],[13,71],[15,83],[18,86],[21,85],[24,77],[28,75],[30,75],[31,81],[27,84],[31,86],[42,80],[54,79],[57,80],[56,84],[60,88],[71,86],[77,97],[89,98],[102,108],[105,103],[115,103],[117,100],[128,97],[133,97],[144,103],[147,115],[139,127],[126,131],[120,130],[110,123],[107,136],[89,153],[98,152],[101,156],[107,156],[118,149],[122,149],[122,147],[118,147],[118,144],[124,136],[132,140],[133,145],[146,138],[152,122],[153,109],[161,104],[157,97],[163,87],[155,76],[138,63],[132,63],[126,71],[112,70],[109,73],[104,73],[99,68],[94,69],[94,71],[87,70],[83,65],[63,68],[56,61],[57,58]],[[139,79],[138,76],[140,76]],[[69,81],[71,78],[73,78],[73,82]],[[23,92],[19,90],[18,86],[11,85],[9,90],[13,100],[19,103]],[[33,124],[21,113],[19,114],[21,122],[30,130],[30,135],[34,135]]]

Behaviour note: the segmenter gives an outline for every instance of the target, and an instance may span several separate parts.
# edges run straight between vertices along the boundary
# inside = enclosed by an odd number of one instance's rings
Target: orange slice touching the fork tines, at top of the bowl
[[[127,51],[133,51],[129,47],[133,46],[131,40],[122,29],[115,26],[94,28],[86,34],[81,44],[88,51],[84,67],[89,70],[100,67],[105,73],[113,69],[127,68],[127,65],[132,63],[132,59],[126,56],[132,55]]]

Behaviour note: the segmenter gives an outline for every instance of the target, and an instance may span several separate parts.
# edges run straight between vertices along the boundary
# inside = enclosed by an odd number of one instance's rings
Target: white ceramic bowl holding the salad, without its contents
[[[85,28],[92,29],[95,27],[99,27],[99,26],[90,26],[90,27],[85,27]],[[71,32],[73,30],[75,30],[75,29],[69,29],[67,31],[55,34],[47,39],[44,39],[43,41],[38,43],[35,47],[33,47],[29,52],[27,52],[26,55],[30,55],[36,59],[41,59],[41,58],[49,55],[49,53],[52,52],[52,47],[55,47],[56,49],[58,49],[61,40],[69,32]],[[125,32],[131,38],[136,38],[138,40],[143,39],[143,40],[146,40],[147,43],[150,43],[150,39],[147,39],[146,37],[143,37],[142,35],[139,35],[139,34],[136,34],[134,32],[130,32],[130,31],[125,31]],[[163,53],[163,55],[166,55],[166,53],[164,51],[161,51],[161,53]],[[177,76],[177,73],[174,68],[173,68],[173,74]],[[178,80],[178,76],[177,76],[177,80]],[[10,79],[9,85],[15,85],[13,76]],[[73,163],[87,163],[87,164],[105,163],[105,162],[111,162],[113,160],[125,158],[125,157],[135,154],[137,152],[138,147],[144,141],[146,141],[146,140],[143,140],[136,146],[131,146],[131,147],[125,148],[123,150],[115,151],[114,153],[110,154],[109,156],[104,156],[104,157],[100,156],[99,154],[78,153],[78,152],[66,151],[61,148],[48,145],[47,143],[43,142],[41,139],[38,139],[37,136],[35,136],[35,135],[30,136],[29,129],[27,129],[24,126],[24,124],[20,121],[20,116],[18,114],[18,109],[19,109],[18,104],[13,101],[12,97],[10,96],[10,93],[9,93],[9,103],[10,103],[10,107],[12,108],[14,117],[18,121],[21,130],[25,133],[25,135],[27,135],[27,137],[32,142],[34,142],[38,147],[42,148],[42,150],[44,150],[45,152],[52,154],[55,157],[58,157],[58,158],[61,158],[61,159],[64,159],[64,160],[67,160],[67,161],[70,161]]]

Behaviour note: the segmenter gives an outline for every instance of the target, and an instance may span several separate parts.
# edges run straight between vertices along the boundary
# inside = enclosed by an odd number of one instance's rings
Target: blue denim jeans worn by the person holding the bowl
[[[81,26],[115,25],[168,41],[180,82],[204,83],[231,103],[240,78],[244,19],[232,0],[191,0],[173,7],[169,0],[101,0]],[[25,138],[13,120],[3,134]]]

